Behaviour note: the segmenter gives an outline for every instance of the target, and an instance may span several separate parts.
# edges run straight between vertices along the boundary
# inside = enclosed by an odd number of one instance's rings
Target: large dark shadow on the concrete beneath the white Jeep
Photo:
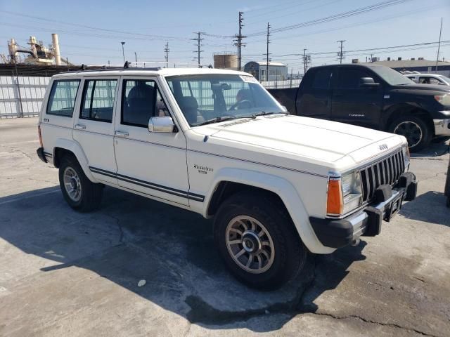
[[[280,329],[299,312],[314,312],[314,299],[338,286],[349,266],[365,258],[361,242],[330,256],[311,256],[304,272],[277,291],[248,289],[221,263],[211,220],[108,187],[94,213],[70,209],[58,187],[0,198],[0,238],[46,259],[44,267],[30,263],[30,275],[52,272],[55,278],[72,266],[91,270],[209,329],[232,329],[252,317],[282,314],[246,326],[257,332]],[[15,258],[17,253],[4,256],[11,265]],[[18,276],[27,275],[13,275]],[[139,287],[141,279],[146,285]]]

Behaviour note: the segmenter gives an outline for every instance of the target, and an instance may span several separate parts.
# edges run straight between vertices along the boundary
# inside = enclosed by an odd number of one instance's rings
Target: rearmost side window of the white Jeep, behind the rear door
[[[79,79],[60,79],[51,87],[47,114],[72,117]]]

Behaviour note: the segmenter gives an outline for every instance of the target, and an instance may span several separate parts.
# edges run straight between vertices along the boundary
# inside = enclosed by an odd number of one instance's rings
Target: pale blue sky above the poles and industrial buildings
[[[163,61],[169,44],[169,64],[194,64],[194,32],[202,37],[203,65],[212,64],[213,53],[236,52],[231,36],[238,32],[238,11],[243,11],[243,65],[265,60],[267,22],[272,32],[271,60],[287,63],[302,72],[300,54],[307,48],[312,65],[336,62],[338,40],[346,40],[346,62],[352,58],[424,57],[435,60],[437,44],[359,51],[389,46],[450,40],[450,0],[403,0],[392,6],[333,19],[332,15],[366,8],[387,0],[297,0],[297,1],[7,1],[0,0],[0,53],[8,54],[7,40],[27,46],[30,35],[51,44],[59,34],[63,58],[77,64],[122,64],[121,41],[127,60]],[[370,9],[370,8],[369,8]],[[332,19],[330,19],[332,17]],[[328,18],[326,22],[314,22]],[[313,21],[313,22],[311,22]],[[305,24],[305,22],[309,22]],[[302,24],[302,25],[300,25]],[[289,27],[297,25],[295,27]],[[300,25],[300,27],[298,27]],[[284,27],[288,27],[283,29]],[[276,29],[282,29],[276,32]],[[330,53],[327,53],[330,52]],[[317,54],[322,53],[322,54]],[[294,54],[294,55],[292,55]],[[441,46],[439,59],[450,60],[450,42]]]

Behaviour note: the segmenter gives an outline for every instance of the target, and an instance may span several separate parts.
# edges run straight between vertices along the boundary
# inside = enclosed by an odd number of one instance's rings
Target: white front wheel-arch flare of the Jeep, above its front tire
[[[300,195],[297,193],[297,190],[295,190],[295,187],[288,180],[271,174],[245,169],[220,169],[214,176],[210,190],[206,194],[203,216],[207,216],[207,209],[212,195],[222,181],[259,187],[276,193],[285,204],[302,242],[307,246],[309,251],[322,254],[333,253],[333,251],[335,251],[335,249],[323,246],[323,244],[319,242],[319,239],[317,239],[316,234],[309,223],[309,214],[304,207]]]

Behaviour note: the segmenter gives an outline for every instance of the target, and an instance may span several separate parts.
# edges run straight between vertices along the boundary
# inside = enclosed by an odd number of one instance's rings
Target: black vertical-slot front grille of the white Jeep
[[[361,184],[363,187],[363,203],[371,201],[375,190],[384,184],[394,185],[405,170],[403,152],[400,150],[390,157],[385,157],[361,169]]]

